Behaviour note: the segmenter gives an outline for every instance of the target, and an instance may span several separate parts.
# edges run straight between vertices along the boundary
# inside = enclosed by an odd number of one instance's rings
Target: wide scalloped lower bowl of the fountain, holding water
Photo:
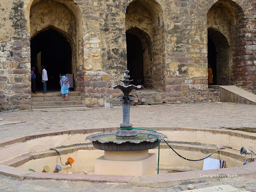
[[[118,139],[116,138],[116,132],[106,132],[92,134],[86,137],[86,140],[90,140],[92,145],[105,151],[142,151],[152,149],[158,146],[159,140],[167,138],[166,135],[153,131],[137,131],[138,136],[134,139]],[[156,138],[155,136],[158,136]],[[150,135],[148,137],[148,135]]]

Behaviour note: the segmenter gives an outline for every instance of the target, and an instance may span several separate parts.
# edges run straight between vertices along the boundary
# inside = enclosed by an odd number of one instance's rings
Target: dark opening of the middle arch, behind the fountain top
[[[126,32],[127,68],[130,71],[131,84],[144,85],[143,48],[140,39]]]

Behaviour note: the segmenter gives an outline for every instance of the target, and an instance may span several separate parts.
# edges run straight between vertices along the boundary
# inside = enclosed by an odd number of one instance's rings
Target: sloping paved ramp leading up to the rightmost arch
[[[256,105],[256,94],[238,88],[237,86],[219,86],[220,102],[232,102]]]

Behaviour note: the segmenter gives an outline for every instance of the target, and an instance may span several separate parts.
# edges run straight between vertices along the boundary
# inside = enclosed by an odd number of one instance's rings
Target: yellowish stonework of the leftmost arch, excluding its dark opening
[[[72,50],[72,74],[75,90],[83,65],[82,12],[74,0],[31,0],[30,40],[46,30],[55,30],[66,38]],[[33,52],[33,51],[32,51]]]

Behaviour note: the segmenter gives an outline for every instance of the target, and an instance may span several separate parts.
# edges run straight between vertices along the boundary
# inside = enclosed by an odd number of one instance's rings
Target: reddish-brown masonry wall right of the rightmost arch
[[[256,94],[256,2],[241,4],[242,19],[234,32],[232,84]]]

